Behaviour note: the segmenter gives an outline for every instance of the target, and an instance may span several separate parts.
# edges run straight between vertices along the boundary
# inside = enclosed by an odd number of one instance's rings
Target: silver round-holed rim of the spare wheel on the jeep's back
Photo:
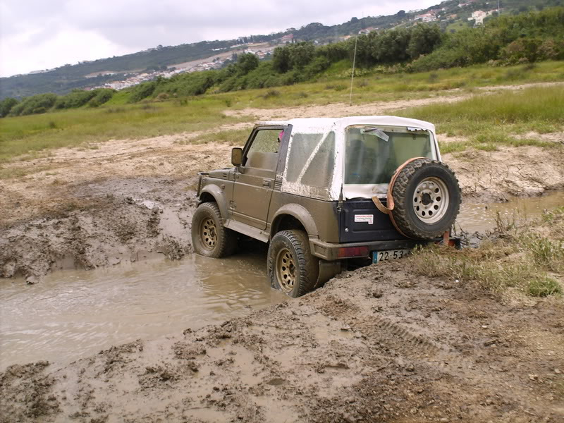
[[[413,211],[415,216],[424,223],[436,223],[443,219],[448,211],[448,189],[440,178],[431,176],[425,178],[413,194]]]

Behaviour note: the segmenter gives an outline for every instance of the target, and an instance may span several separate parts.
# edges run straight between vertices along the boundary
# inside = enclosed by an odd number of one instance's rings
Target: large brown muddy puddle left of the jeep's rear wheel
[[[266,252],[228,259],[56,271],[42,283],[0,279],[0,369],[71,362],[111,345],[217,324],[286,295],[266,282]]]

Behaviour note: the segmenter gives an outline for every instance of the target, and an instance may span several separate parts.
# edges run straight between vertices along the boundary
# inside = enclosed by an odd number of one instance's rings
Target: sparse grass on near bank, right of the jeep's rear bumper
[[[548,224],[547,224],[548,223]],[[539,231],[550,231],[546,238]],[[418,274],[477,283],[493,293],[508,288],[525,295],[561,295],[564,281],[564,207],[546,212],[526,225],[498,222],[498,228],[478,248],[456,251],[432,245],[415,252]]]

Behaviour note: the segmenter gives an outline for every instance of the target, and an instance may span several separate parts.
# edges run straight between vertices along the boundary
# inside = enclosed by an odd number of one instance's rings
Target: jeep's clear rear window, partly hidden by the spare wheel
[[[427,130],[351,126],[345,141],[345,184],[389,183],[396,168],[413,157],[436,159]]]

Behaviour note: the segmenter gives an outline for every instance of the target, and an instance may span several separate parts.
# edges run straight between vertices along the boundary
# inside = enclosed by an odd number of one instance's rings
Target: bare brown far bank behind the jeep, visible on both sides
[[[40,281],[53,269],[93,269],[191,252],[197,171],[228,166],[228,145],[184,145],[192,135],[61,149],[13,164],[49,164],[0,186],[0,278]],[[564,187],[564,149],[501,147],[444,154],[465,199],[508,201]],[[157,164],[157,165],[155,165]]]

